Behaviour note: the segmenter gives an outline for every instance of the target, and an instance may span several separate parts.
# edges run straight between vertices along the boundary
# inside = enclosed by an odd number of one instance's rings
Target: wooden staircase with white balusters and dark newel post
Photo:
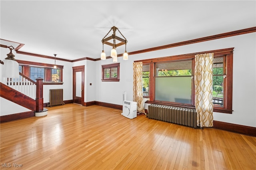
[[[44,108],[43,79],[38,77],[36,82],[26,75],[20,73],[19,79],[2,78],[0,82],[0,97],[12,101],[22,107],[30,109],[31,112],[1,116],[0,122],[13,121],[27,117],[40,117],[47,115],[48,109]]]

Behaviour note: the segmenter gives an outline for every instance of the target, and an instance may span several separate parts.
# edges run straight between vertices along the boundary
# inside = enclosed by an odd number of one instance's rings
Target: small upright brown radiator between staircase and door
[[[50,89],[50,103],[49,106],[64,105],[63,89]]]

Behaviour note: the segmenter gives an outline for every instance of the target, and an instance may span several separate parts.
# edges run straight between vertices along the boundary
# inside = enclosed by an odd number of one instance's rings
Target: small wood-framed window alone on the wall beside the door
[[[119,81],[120,63],[102,65],[102,81]]]

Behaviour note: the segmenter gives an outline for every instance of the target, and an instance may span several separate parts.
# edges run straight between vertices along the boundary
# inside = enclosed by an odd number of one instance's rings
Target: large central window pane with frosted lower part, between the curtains
[[[191,105],[192,59],[155,64],[155,100]]]

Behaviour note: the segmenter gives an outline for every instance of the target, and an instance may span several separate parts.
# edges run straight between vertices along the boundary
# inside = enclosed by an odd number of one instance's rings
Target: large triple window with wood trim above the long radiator
[[[232,113],[233,49],[140,60],[143,63],[143,71],[150,71],[150,100],[147,103],[194,109],[194,56],[200,53],[214,53],[214,112]]]

